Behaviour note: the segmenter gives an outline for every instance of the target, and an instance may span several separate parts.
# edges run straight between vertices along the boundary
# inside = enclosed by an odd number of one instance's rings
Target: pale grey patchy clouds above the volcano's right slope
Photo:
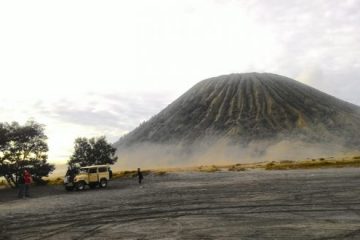
[[[282,45],[275,71],[360,105],[359,1],[252,1],[249,11]]]

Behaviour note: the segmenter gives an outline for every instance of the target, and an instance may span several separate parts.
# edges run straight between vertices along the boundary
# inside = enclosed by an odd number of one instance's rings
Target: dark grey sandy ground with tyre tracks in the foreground
[[[0,190],[0,239],[360,239],[360,169],[172,173]]]

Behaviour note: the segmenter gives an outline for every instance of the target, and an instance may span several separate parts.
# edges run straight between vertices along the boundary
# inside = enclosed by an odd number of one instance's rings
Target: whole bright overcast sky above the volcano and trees
[[[1,1],[0,122],[46,125],[49,161],[110,142],[200,80],[272,72],[360,105],[360,1]]]

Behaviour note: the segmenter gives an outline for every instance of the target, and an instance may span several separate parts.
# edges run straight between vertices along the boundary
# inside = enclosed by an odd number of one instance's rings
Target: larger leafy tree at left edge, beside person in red
[[[17,179],[24,168],[31,169],[35,181],[48,176],[55,167],[47,163],[48,145],[44,126],[28,121],[24,126],[17,122],[0,124],[0,176],[10,186],[17,185]]]

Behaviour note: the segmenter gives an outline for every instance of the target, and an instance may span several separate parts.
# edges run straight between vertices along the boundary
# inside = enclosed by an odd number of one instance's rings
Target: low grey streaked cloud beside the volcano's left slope
[[[32,108],[36,109],[39,115],[63,123],[119,134],[126,133],[150,118],[168,101],[166,95],[157,96],[153,93],[128,92],[126,96],[125,93],[88,93],[74,99],[58,99],[52,102],[39,100]]]

